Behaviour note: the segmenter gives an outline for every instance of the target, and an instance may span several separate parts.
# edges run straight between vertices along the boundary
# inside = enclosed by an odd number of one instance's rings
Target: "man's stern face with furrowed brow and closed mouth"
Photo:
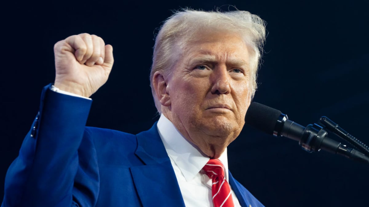
[[[167,79],[170,119],[197,146],[228,145],[241,132],[251,101],[248,48],[228,33],[195,40],[184,47]]]

